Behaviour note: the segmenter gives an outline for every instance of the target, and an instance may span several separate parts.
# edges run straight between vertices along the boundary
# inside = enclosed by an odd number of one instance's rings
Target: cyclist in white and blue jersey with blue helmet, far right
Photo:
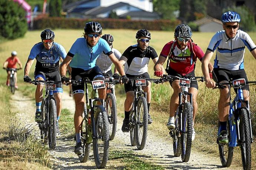
[[[213,88],[215,83],[210,80],[206,66],[213,56],[213,51],[216,50],[214,60],[213,80],[217,83],[228,83],[230,79],[245,79],[247,76],[244,71],[244,49],[245,46],[250,50],[253,57],[256,59],[256,46],[250,36],[239,30],[240,16],[238,13],[228,11],[223,13],[221,21],[223,30],[217,32],[209,43],[203,59],[202,71],[206,81],[206,87]],[[244,100],[249,101],[249,85],[242,87]],[[237,93],[237,90],[235,90]],[[219,131],[218,141],[221,144],[227,144],[227,117],[230,104],[230,88],[220,89],[220,98],[218,104],[219,110]]]

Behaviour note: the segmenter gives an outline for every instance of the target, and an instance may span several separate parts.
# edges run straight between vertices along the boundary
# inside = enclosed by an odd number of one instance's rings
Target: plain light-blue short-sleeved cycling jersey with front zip
[[[72,68],[90,70],[96,66],[96,60],[102,52],[107,55],[112,54],[111,48],[104,39],[99,39],[95,46],[90,47],[84,37],[78,38],[68,52],[68,56],[73,57],[69,65]]]

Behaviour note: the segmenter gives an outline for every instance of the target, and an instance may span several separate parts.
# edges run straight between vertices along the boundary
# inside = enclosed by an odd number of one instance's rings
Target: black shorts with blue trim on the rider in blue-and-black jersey
[[[44,73],[43,71],[35,70],[34,76],[35,76],[35,80],[38,77],[42,77],[43,80],[45,80],[45,81],[46,81],[46,79],[49,80],[49,81],[60,81],[60,72],[59,72],[59,70],[58,71],[53,71],[52,73]],[[62,89],[62,85],[60,83],[56,84],[56,88],[61,88]]]

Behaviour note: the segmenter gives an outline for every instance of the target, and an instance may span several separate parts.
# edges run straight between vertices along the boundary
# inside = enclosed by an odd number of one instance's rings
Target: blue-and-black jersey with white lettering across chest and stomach
[[[64,47],[53,42],[50,50],[45,49],[43,42],[35,44],[29,54],[29,59],[36,58],[36,70],[52,73],[59,70],[60,57],[65,59],[67,53]]]

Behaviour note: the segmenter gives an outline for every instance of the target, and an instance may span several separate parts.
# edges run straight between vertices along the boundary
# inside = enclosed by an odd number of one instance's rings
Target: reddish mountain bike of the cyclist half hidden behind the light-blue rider
[[[113,85],[120,83],[119,80],[115,80],[113,77],[105,77],[105,83],[107,87],[107,96],[105,100],[106,113],[108,114],[108,123],[109,123],[109,140],[113,140],[116,133],[116,124],[117,124],[117,109],[116,109],[116,100],[114,96]]]

